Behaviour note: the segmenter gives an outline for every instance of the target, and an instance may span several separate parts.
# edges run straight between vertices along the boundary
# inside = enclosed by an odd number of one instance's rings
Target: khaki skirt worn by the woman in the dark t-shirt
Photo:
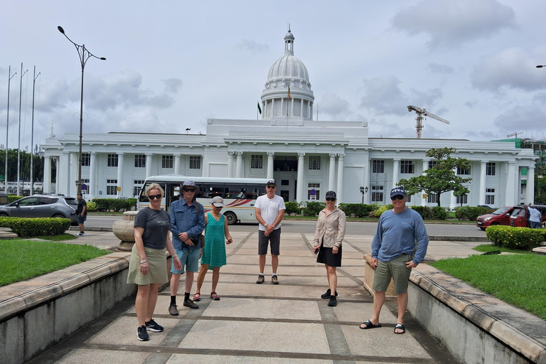
[[[129,259],[129,274],[127,283],[143,284],[164,284],[168,282],[167,258],[164,249],[151,249],[144,247],[146,259],[148,259],[148,274],[140,272],[140,257],[137,245],[133,245],[131,259]]]

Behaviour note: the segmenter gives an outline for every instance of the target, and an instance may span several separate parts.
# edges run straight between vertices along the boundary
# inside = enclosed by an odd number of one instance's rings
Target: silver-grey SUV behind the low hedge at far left
[[[60,195],[34,195],[20,198],[0,208],[0,216],[12,218],[67,218],[77,223],[77,200]]]

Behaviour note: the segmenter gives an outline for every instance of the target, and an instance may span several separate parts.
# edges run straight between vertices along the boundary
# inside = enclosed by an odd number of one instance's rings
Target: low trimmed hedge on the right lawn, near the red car
[[[486,236],[498,247],[532,250],[545,240],[546,232],[541,229],[513,228],[495,225],[486,228]]]

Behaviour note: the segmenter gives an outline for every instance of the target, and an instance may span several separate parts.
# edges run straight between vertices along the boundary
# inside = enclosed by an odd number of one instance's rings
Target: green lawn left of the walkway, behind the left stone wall
[[[48,238],[67,240],[73,237],[64,235]],[[91,245],[24,239],[0,240],[0,286],[55,272],[109,253]]]

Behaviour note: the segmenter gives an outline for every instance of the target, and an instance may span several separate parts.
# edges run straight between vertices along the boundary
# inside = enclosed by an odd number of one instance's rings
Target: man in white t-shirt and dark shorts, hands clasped
[[[267,194],[256,199],[256,220],[258,220],[258,255],[259,255],[259,276],[257,284],[265,280],[265,257],[267,246],[271,245],[271,265],[273,275],[272,284],[279,284],[277,279],[277,267],[279,266],[279,247],[281,245],[281,221],[284,218],[284,199],[275,195],[277,183],[274,180],[268,181],[266,185]]]

